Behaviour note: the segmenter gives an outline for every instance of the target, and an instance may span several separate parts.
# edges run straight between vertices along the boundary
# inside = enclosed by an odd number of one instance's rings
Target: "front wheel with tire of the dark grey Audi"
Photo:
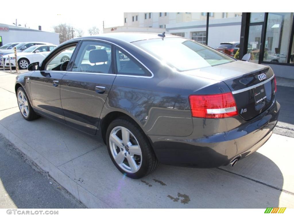
[[[27,121],[32,121],[34,119],[39,118],[39,115],[33,110],[31,103],[24,91],[24,88],[19,87],[16,92],[17,103],[19,106],[19,110],[21,112],[21,116]]]

